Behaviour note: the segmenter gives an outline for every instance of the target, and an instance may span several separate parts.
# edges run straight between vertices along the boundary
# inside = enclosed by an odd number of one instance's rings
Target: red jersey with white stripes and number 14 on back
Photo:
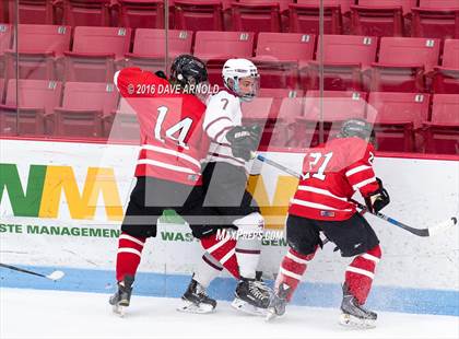
[[[209,150],[202,129],[205,105],[195,95],[175,93],[169,82],[140,68],[125,68],[114,82],[136,112],[141,151],[136,176],[201,185]]]

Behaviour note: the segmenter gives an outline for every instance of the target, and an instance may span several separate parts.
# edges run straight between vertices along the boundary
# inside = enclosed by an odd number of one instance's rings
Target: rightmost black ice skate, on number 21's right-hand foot
[[[358,305],[357,300],[349,291],[348,284],[343,285],[343,301],[341,303],[340,324],[357,328],[376,327],[377,314]]]

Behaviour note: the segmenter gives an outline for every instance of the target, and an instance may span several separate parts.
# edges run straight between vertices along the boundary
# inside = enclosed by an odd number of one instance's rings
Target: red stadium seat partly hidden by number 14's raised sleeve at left
[[[113,83],[67,82],[62,106],[55,108],[54,133],[60,137],[103,137],[103,119],[117,106]]]

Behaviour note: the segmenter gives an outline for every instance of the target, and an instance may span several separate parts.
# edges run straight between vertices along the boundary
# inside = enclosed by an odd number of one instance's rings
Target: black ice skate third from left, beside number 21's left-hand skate
[[[255,279],[242,278],[236,287],[234,308],[252,315],[266,316],[271,299],[271,290]]]

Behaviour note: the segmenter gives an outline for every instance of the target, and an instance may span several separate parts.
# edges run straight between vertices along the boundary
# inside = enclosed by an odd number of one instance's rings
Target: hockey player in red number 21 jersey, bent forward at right
[[[284,314],[308,261],[321,246],[319,233],[323,232],[342,257],[354,257],[345,271],[340,323],[374,326],[376,313],[363,305],[381,250],[375,232],[350,201],[358,190],[370,211],[378,212],[389,203],[389,195],[373,170],[370,139],[370,124],[350,119],[343,122],[338,138],[306,154],[286,220],[290,248],[279,269],[269,317]]]

